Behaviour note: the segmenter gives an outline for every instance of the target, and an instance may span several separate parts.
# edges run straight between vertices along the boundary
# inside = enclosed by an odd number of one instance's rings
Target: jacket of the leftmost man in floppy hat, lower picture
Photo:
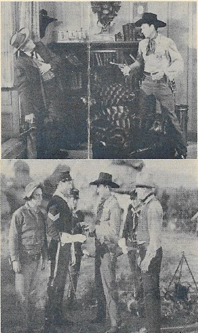
[[[47,256],[46,226],[40,210],[35,213],[26,203],[14,212],[9,230],[9,248],[12,261],[39,253],[44,258]]]

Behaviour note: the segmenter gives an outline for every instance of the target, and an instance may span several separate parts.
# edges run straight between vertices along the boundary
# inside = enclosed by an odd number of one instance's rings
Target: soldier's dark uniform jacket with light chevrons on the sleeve
[[[49,254],[51,260],[55,259],[58,242],[62,232],[72,233],[72,212],[67,202],[59,195],[54,195],[47,207],[47,234],[51,242]]]

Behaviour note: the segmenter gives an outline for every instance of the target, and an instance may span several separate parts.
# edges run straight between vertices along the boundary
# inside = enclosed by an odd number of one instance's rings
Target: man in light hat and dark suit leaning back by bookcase
[[[65,130],[60,58],[41,41],[33,42],[26,28],[16,31],[10,44],[19,53],[14,86],[20,97],[21,122],[35,119],[37,158],[56,158]]]

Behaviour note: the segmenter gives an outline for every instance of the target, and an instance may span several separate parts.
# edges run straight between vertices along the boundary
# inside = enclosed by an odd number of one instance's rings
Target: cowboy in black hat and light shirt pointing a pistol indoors
[[[124,66],[121,71],[124,75],[135,73],[144,69],[141,83],[139,112],[143,119],[148,113],[149,96],[155,96],[160,102],[162,113],[176,129],[175,141],[179,156],[186,156],[186,144],[175,115],[175,79],[183,72],[184,62],[175,42],[158,32],[166,24],[158,20],[153,13],[143,13],[141,19],[135,23],[141,27],[144,39],[139,42],[137,60],[130,66]]]

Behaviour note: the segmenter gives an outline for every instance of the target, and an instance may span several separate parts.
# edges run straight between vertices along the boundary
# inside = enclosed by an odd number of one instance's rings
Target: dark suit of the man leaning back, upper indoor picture
[[[37,126],[37,158],[53,158],[60,148],[64,125],[64,96],[61,84],[61,60],[42,42],[35,51],[52,66],[55,77],[44,82],[34,60],[20,52],[15,62],[14,85],[20,96],[21,121],[33,113]]]

